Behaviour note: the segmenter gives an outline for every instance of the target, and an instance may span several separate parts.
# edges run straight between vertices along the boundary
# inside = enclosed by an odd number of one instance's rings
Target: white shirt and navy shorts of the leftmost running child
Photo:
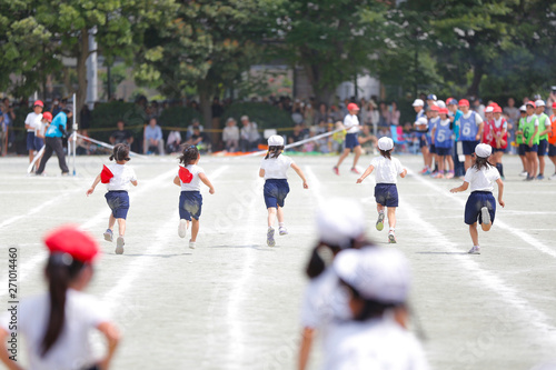
[[[126,219],[129,211],[128,191],[131,188],[131,181],[137,181],[136,172],[127,164],[110,163],[107,168],[113,177],[107,183],[106,201],[115,218]]]

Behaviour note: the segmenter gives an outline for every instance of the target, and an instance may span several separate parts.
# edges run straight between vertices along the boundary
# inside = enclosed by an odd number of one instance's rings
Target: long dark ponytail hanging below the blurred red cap
[[[48,259],[46,273],[49,280],[50,313],[41,343],[42,357],[54,346],[63,330],[66,293],[70,282],[81,272],[83,266],[83,262],[75,260],[68,253],[52,253]]]

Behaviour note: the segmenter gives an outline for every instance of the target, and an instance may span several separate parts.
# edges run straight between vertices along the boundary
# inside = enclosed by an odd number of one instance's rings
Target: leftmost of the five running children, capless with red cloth
[[[113,227],[116,221],[118,221],[119,237],[116,240],[116,254],[122,254],[125,246],[123,236],[126,234],[126,218],[129,211],[129,184],[132,183],[133,187],[137,187],[137,176],[131,167],[126,166],[126,163],[131,160],[131,158],[129,158],[129,147],[127,144],[116,144],[112,156],[110,156],[110,160],[115,160],[116,163],[103,166],[102,171],[97,176],[91,188],[87,190],[87,197],[92,194],[99,182],[106,183],[108,192],[105,194],[105,198],[112,212],[108,220],[108,229],[105,231],[105,240],[113,240]]]

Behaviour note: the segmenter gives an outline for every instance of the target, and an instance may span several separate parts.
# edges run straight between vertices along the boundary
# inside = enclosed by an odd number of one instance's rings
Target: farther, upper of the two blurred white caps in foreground
[[[334,198],[317,211],[317,230],[321,242],[348,248],[351,240],[365,232],[365,213],[353,199]]]

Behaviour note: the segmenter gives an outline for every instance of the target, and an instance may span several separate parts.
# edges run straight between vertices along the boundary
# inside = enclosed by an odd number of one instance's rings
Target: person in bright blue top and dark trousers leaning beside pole
[[[62,176],[69,174],[68,166],[66,164],[66,154],[63,153],[62,146],[62,137],[67,137],[66,127],[68,124],[68,119],[73,116],[73,107],[71,104],[67,104],[58,116],[54,117],[52,123],[47,129],[47,133],[44,134],[44,154],[40,160],[39,169],[37,170],[37,174],[40,176],[44,172],[44,168],[47,167],[47,162],[52,156],[52,152],[56,152],[58,157],[58,164],[62,170]]]

